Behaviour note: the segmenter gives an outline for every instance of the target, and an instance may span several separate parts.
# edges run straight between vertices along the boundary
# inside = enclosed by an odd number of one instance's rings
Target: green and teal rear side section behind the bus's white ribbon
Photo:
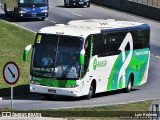
[[[145,83],[148,71],[150,51],[149,48],[138,49],[133,51],[132,59],[126,69],[126,86],[131,73],[134,74],[133,86],[138,86],[142,82]],[[146,73],[147,72],[147,73]],[[143,79],[144,78],[144,79]]]

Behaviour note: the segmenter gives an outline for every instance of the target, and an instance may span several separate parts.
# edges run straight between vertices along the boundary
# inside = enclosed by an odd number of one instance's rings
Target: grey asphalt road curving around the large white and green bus
[[[95,5],[91,5],[90,8],[65,8],[63,6],[63,0],[50,0],[50,13],[45,21],[25,20],[16,22],[11,17],[6,17],[1,9],[0,18],[18,24],[34,32],[37,32],[42,27],[51,26],[55,23],[67,23],[70,20],[96,18],[137,21],[147,23],[151,27],[151,61],[148,82],[146,84],[135,87],[131,93],[123,93],[122,91],[106,92],[97,94],[96,97],[91,100],[85,100],[83,97],[73,98],[65,96],[57,96],[52,101],[47,101],[42,96],[17,98],[14,99],[13,103],[15,109],[68,108],[128,103],[146,99],[160,99],[159,22]],[[9,106],[10,100],[0,100],[0,108]]]

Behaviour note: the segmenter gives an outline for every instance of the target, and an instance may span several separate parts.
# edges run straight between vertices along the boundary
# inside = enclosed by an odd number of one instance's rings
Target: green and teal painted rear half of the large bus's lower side
[[[126,51],[125,55],[128,56],[128,54],[129,51]],[[134,75],[133,86],[138,86],[140,84],[145,83],[147,81],[147,75],[148,75],[149,54],[150,54],[149,48],[134,50],[132,52],[132,58],[130,60],[130,63],[128,66],[126,66],[124,75],[118,78],[120,74],[119,71],[124,64],[122,62],[122,53],[120,53],[112,68],[107,85],[107,90],[116,90],[125,88],[128,84],[128,78],[130,74]]]

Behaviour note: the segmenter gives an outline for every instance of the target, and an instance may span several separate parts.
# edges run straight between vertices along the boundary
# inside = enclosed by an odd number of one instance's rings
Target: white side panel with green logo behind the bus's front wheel
[[[105,57],[93,56],[91,58],[89,72],[87,73],[88,78],[84,79],[90,79],[89,76],[92,76],[91,79],[96,80],[96,93],[106,91],[109,76],[117,57],[117,55],[114,55]],[[117,71],[115,73],[117,73]]]

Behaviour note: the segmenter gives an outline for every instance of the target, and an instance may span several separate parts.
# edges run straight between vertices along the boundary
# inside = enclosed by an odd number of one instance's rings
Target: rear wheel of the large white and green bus
[[[131,89],[133,87],[133,84],[134,84],[134,74],[133,73],[130,73],[129,77],[128,77],[128,82],[127,82],[127,86],[125,88],[125,92],[126,93],[129,93],[131,92]]]

